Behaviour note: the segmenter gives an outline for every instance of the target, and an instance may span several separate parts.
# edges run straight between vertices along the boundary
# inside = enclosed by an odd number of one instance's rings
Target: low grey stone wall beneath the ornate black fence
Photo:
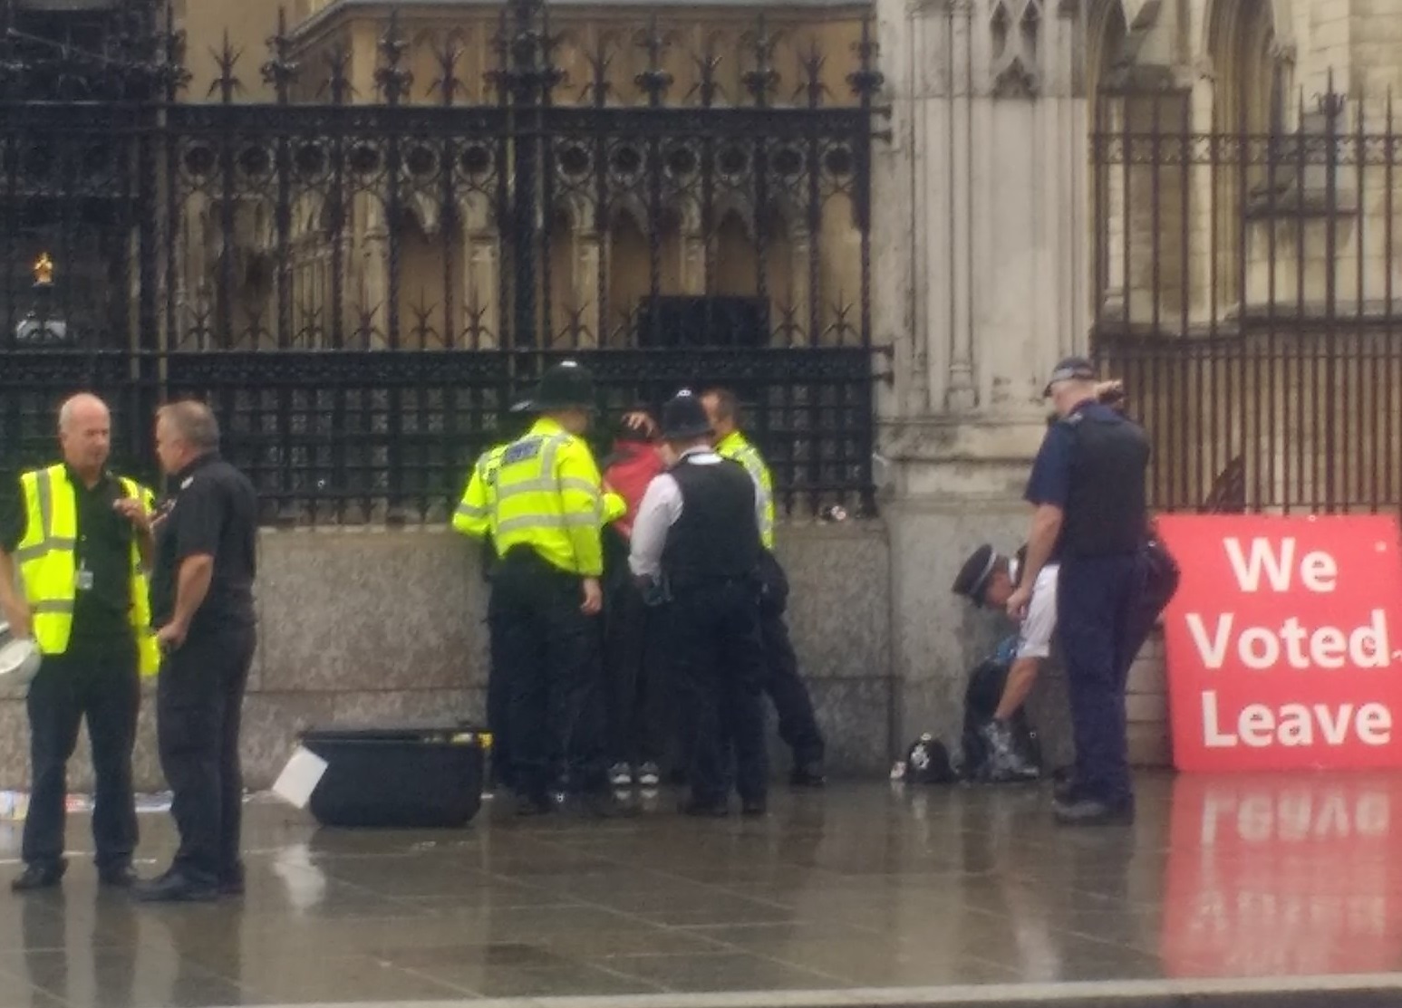
[[[890,572],[880,523],[785,527],[789,627],[829,736],[833,768],[885,772],[890,756]],[[486,590],[475,547],[439,530],[265,531],[261,642],[244,705],[248,785],[268,786],[297,733],[331,723],[481,719]],[[773,721],[773,719],[771,719]],[[22,691],[0,680],[0,786],[28,786]],[[775,753],[775,768],[788,758]],[[147,688],[140,789],[164,786]],[[87,742],[70,786],[91,788]]]

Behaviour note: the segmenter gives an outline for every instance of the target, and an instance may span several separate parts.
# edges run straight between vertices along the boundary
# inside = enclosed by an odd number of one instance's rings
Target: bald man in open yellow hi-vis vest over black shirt
[[[59,409],[63,461],[22,474],[15,505],[0,517],[0,610],[10,632],[32,636],[41,653],[28,697],[34,788],[15,892],[63,879],[66,768],[84,718],[97,777],[98,878],[119,887],[135,880],[139,676],[156,674],[160,663],[146,579],[153,498],[108,471],[111,437],[102,400],[70,398]]]

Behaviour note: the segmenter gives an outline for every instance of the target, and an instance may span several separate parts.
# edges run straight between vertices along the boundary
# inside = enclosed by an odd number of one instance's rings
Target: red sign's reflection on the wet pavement
[[[1168,976],[1398,966],[1402,775],[1183,775],[1171,815]]]

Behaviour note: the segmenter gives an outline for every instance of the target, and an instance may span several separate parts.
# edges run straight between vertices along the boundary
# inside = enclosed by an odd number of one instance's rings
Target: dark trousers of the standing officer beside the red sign
[[[1057,579],[1057,634],[1066,655],[1075,782],[1081,798],[1131,799],[1124,687],[1143,592],[1138,554],[1066,558]]]

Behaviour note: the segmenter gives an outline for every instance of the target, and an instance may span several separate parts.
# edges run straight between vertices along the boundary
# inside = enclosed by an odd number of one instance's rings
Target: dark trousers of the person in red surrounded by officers
[[[608,760],[639,765],[662,763],[669,737],[667,683],[662,620],[631,575],[608,586],[604,665],[608,679]]]

